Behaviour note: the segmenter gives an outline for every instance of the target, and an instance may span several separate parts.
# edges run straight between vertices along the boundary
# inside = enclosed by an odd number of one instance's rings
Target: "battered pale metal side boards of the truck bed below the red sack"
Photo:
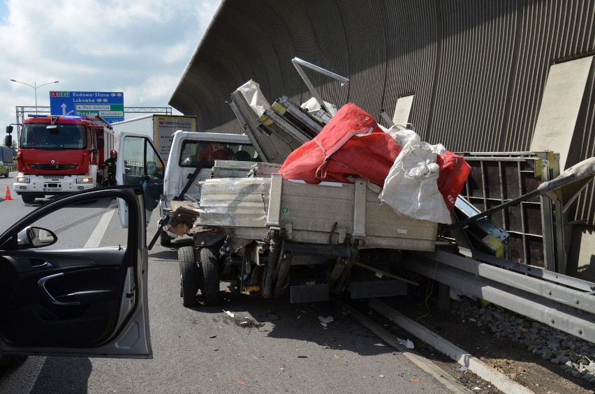
[[[434,250],[437,223],[395,212],[378,189],[363,179],[312,185],[281,174],[208,179],[196,225],[245,239],[266,238],[270,227],[280,227],[297,243],[337,245],[358,237],[360,248]]]

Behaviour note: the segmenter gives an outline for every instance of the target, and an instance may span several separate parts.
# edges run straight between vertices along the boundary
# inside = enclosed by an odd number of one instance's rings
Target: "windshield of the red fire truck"
[[[84,149],[85,126],[25,123],[19,147],[21,149]]]

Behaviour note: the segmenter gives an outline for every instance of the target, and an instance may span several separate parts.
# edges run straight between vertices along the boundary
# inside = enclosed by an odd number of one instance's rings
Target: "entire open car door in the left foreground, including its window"
[[[0,354],[152,358],[145,243],[140,185],[68,195],[10,227],[0,235]]]

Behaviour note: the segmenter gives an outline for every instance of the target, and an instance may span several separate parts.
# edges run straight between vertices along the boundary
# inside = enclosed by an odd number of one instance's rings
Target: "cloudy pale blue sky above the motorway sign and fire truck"
[[[0,0],[0,142],[36,92],[38,106],[50,91],[102,91],[124,92],[125,107],[168,107],[220,3]]]

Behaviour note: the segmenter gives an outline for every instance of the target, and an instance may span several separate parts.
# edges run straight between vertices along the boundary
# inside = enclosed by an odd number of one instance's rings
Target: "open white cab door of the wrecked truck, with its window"
[[[116,181],[118,185],[142,185],[145,199],[146,225],[159,205],[163,194],[166,165],[153,141],[146,135],[123,132],[118,141]],[[122,227],[128,227],[128,206],[118,199],[118,214]]]

